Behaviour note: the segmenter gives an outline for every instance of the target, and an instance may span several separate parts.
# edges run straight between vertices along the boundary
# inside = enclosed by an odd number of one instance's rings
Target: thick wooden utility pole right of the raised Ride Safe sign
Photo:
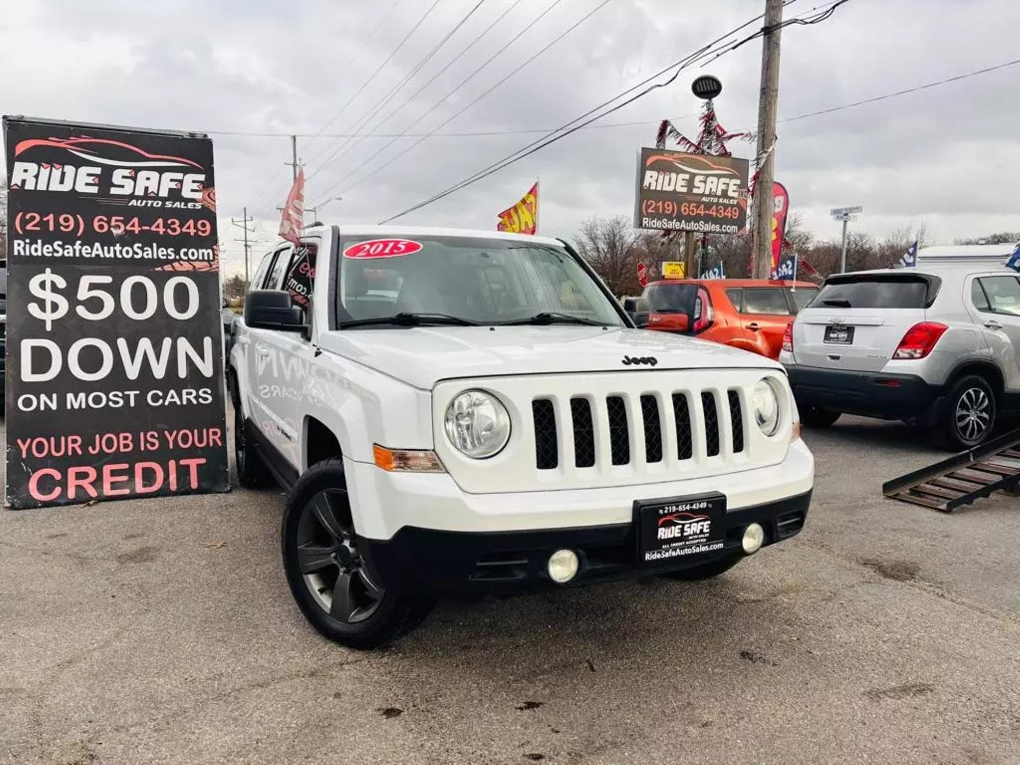
[[[772,180],[775,167],[775,112],[779,97],[779,24],[782,0],[765,0],[762,79],[758,94],[758,181],[755,184],[755,259],[752,276],[772,270]],[[763,158],[764,157],[764,158]]]

